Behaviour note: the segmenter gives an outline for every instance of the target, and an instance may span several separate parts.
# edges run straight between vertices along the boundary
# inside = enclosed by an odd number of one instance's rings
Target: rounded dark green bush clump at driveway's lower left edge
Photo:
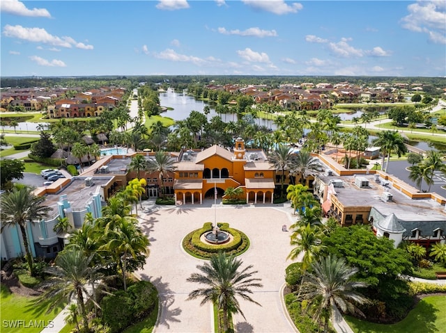
[[[127,292],[116,291],[102,298],[102,321],[110,332],[121,332],[148,316],[155,309],[157,298],[153,284],[139,281],[129,286]]]

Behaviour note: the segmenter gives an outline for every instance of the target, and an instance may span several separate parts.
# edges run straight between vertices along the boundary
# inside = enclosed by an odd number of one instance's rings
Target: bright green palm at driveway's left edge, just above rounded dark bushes
[[[124,291],[127,291],[127,263],[132,258],[137,259],[139,255],[147,257],[150,242],[133,218],[120,218],[116,228],[106,238],[109,241],[102,248],[115,258],[123,275]]]

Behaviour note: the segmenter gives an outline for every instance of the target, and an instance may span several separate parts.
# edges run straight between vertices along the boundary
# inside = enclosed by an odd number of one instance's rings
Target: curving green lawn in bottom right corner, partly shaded
[[[446,332],[446,295],[423,298],[406,318],[392,325],[369,323],[351,316],[345,319],[355,333]]]

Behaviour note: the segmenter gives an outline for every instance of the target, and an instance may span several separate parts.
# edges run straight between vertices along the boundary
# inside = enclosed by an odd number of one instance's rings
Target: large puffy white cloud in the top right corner
[[[446,6],[444,1],[418,1],[407,6],[409,15],[401,19],[404,29],[426,33],[429,40],[446,44]]]

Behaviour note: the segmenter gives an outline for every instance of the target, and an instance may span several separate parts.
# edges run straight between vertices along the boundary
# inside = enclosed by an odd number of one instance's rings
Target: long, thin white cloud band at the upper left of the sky
[[[76,42],[74,39],[67,36],[60,38],[58,36],[51,35],[43,28],[25,28],[20,25],[10,26],[9,24],[6,24],[6,26],[3,28],[3,35],[10,38],[27,40],[29,42],[40,42],[54,45],[56,47],[71,48],[75,46],[78,49],[93,49],[93,45],[86,45],[82,42]]]

